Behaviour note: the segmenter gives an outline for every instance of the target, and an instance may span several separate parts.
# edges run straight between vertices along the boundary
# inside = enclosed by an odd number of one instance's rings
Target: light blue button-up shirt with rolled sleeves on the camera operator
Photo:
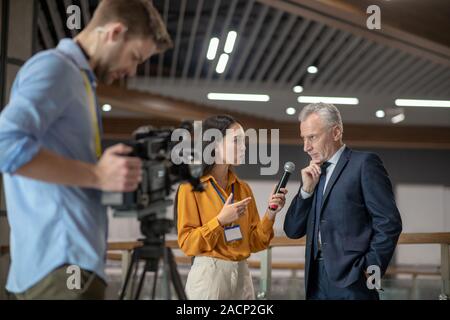
[[[63,264],[106,278],[108,220],[100,191],[14,175],[41,148],[70,159],[97,161],[81,72],[95,86],[81,49],[73,40],[62,40],[56,49],[38,53],[22,67],[0,114],[0,172],[11,226],[6,288],[14,293],[27,290]]]

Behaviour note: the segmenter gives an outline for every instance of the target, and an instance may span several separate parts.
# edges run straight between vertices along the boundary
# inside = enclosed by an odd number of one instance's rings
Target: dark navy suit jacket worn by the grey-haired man
[[[317,188],[317,187],[316,187]],[[289,238],[306,235],[305,286],[312,262],[314,195],[292,201],[284,231]],[[370,265],[384,275],[402,231],[392,185],[380,158],[345,148],[323,196],[320,233],[325,269],[330,281],[345,288]]]

